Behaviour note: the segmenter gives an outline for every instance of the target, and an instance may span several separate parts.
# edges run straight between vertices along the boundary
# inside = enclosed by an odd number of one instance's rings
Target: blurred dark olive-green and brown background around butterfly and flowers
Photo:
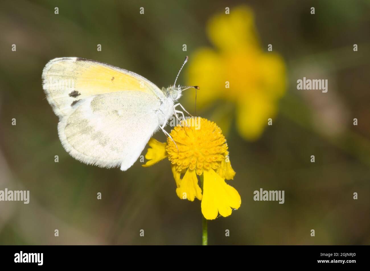
[[[76,56],[167,87],[186,55],[213,47],[206,35],[209,18],[225,7],[232,13],[240,4],[255,15],[261,49],[267,53],[271,43],[283,57],[287,88],[277,101],[273,125],[257,140],[242,138],[229,119],[225,135],[236,176],[228,184],[238,190],[242,204],[230,217],[209,222],[209,244],[370,244],[367,0],[4,1],[0,190],[30,190],[30,203],[0,202],[0,244],[201,244],[200,201],[177,197],[168,161],[149,168],[137,161],[121,172],[88,166],[67,154],[41,72],[55,57]],[[186,68],[179,84],[186,84]],[[296,80],[312,74],[329,80],[328,93],[297,90]],[[200,87],[201,103],[207,88]],[[194,112],[194,91],[184,96],[181,102]],[[197,115],[218,123],[213,117],[227,104],[220,100],[197,109]],[[165,141],[162,133],[154,137]],[[259,188],[285,190],[285,203],[253,201]],[[145,237],[139,236],[141,229]]]

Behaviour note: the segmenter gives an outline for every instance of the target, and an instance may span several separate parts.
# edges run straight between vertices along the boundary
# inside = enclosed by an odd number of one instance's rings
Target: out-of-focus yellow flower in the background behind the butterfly
[[[235,104],[239,134],[246,140],[256,140],[268,119],[276,115],[277,102],[285,93],[284,61],[267,51],[267,44],[262,50],[248,7],[213,16],[206,31],[216,49],[198,49],[187,73],[190,86],[202,86],[197,105],[205,107],[218,99]]]

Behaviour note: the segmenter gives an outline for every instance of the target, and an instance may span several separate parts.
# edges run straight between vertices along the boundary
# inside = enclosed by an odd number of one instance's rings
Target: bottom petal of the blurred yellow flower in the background
[[[276,103],[269,96],[254,91],[248,98],[241,98],[236,109],[236,128],[246,140],[256,140],[275,117]]]

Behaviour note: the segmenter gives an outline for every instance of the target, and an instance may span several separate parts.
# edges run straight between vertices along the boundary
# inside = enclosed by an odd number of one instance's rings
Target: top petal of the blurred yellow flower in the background
[[[248,7],[235,7],[230,14],[213,16],[208,23],[209,39],[221,50],[235,50],[241,46],[257,46],[254,16]]]

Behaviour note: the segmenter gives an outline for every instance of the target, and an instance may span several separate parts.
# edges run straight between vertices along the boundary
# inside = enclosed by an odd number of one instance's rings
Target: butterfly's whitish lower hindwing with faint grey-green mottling
[[[159,106],[155,96],[141,91],[98,94],[78,101],[60,119],[58,134],[77,160],[127,170],[158,128]]]

